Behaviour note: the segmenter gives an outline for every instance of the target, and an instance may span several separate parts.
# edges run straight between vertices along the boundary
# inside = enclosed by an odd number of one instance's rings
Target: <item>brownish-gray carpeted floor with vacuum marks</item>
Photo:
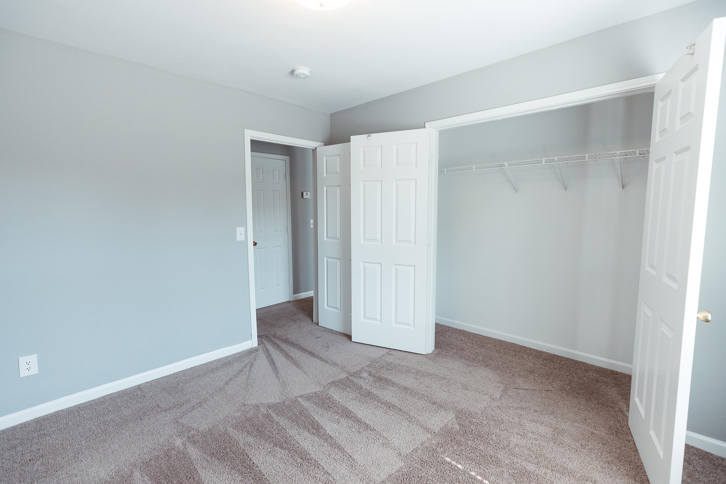
[[[0,432],[1,483],[647,483],[630,377],[436,327],[416,355],[258,311],[259,346]],[[687,446],[684,483],[726,482]]]

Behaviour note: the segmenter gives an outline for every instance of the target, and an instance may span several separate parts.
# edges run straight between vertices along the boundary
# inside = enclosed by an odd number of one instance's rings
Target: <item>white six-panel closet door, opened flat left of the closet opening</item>
[[[351,336],[358,343],[433,350],[429,141],[428,128],[351,137]]]

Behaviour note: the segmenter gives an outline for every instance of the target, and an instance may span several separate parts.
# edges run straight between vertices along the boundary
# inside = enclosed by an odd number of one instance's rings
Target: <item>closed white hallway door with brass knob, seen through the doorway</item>
[[[290,300],[290,245],[287,160],[253,153],[252,233],[257,242],[255,302],[257,308]]]

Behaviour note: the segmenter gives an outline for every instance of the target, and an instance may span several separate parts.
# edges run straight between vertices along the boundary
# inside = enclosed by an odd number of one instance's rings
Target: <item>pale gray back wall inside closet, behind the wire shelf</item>
[[[441,165],[650,146],[653,95],[442,131]],[[475,158],[478,157],[478,158]],[[436,316],[632,364],[647,159],[439,175]],[[473,209],[472,209],[473,208]],[[512,317],[515,311],[516,316]]]

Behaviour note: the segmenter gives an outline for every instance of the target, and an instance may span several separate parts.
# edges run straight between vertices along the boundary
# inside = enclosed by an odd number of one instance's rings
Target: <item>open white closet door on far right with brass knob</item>
[[[656,85],[629,410],[653,484],[681,482],[725,41],[714,20]]]

